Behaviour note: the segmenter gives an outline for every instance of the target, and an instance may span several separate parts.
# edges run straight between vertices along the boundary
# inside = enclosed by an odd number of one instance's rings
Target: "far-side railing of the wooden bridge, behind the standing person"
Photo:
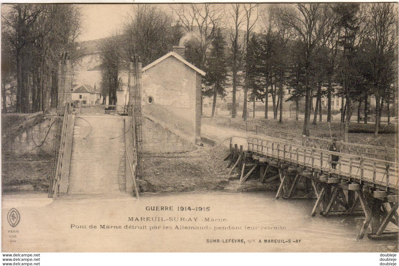
[[[331,143],[332,141],[330,139],[302,136],[302,145],[306,147],[328,150]],[[384,161],[397,162],[398,149],[395,148],[362,145],[343,141],[336,141],[336,145],[338,146],[336,148],[338,148],[341,153],[348,153],[352,155],[380,159]]]

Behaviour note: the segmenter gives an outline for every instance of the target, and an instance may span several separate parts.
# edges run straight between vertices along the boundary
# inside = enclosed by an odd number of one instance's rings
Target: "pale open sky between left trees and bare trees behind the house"
[[[131,4],[83,4],[79,41],[105,38],[120,30],[131,8]]]

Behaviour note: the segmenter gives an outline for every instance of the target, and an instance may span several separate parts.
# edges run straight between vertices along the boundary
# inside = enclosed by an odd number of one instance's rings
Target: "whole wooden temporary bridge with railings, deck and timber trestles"
[[[280,180],[276,199],[315,198],[311,216],[365,215],[358,239],[367,228],[372,239],[398,237],[397,150],[387,147],[337,142],[339,151],[329,151],[332,141],[303,137],[301,144],[272,137],[248,137],[247,149],[230,139],[229,174],[241,167],[240,184],[255,173],[262,183]],[[268,173],[274,173],[266,179]]]

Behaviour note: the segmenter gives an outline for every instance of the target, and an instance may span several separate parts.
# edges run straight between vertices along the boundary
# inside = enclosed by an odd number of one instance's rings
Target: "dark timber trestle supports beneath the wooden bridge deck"
[[[398,238],[398,230],[386,229],[390,222],[399,226],[397,191],[384,191],[372,184],[336,173],[263,157],[243,151],[242,145],[240,149],[237,144],[233,147],[233,143],[230,143],[230,153],[224,160],[229,159],[229,174],[237,167],[241,168],[240,185],[250,176],[256,177],[255,173],[262,183],[279,179],[276,199],[316,199],[310,216],[364,215],[358,240],[364,237],[368,229],[367,236],[370,239]],[[274,175],[266,178],[268,173]]]

